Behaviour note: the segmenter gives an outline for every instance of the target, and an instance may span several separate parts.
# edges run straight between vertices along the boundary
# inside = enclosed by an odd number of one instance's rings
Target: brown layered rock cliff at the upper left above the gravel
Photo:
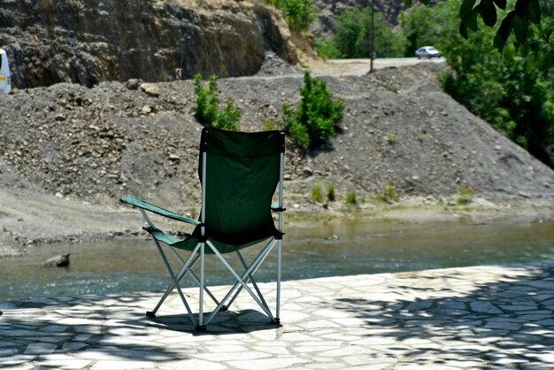
[[[19,89],[258,73],[265,51],[295,64],[281,15],[225,0],[3,0],[0,48]]]

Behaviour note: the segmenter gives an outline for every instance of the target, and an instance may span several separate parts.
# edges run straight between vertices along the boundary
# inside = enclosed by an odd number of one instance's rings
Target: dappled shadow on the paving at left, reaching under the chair
[[[99,360],[181,361],[201,353],[198,345],[209,337],[278,328],[263,313],[243,310],[220,312],[207,332],[197,332],[187,314],[144,317],[142,307],[151,304],[148,294],[53,302],[12,302],[3,310],[0,353],[9,356],[0,357],[0,367],[75,366],[64,362],[67,356],[88,361],[87,366]]]

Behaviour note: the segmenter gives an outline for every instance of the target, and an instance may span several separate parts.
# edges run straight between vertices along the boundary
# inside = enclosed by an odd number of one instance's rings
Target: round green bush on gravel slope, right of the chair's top
[[[333,98],[325,80],[312,78],[309,72],[304,73],[300,95],[302,99],[296,111],[289,104],[283,104],[285,129],[302,148],[325,143],[336,135],[335,127],[342,121],[344,103]]]

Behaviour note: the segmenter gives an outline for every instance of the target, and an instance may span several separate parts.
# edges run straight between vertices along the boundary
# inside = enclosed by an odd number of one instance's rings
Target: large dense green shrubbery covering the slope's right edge
[[[457,12],[459,2],[446,4]],[[455,21],[448,20],[451,30]],[[480,23],[481,20],[478,21]],[[496,30],[481,27],[464,40],[458,33],[444,33],[439,46],[450,66],[443,89],[461,104],[489,121],[514,142],[548,166],[547,151],[554,142],[554,84],[522,59],[509,61],[487,42]]]

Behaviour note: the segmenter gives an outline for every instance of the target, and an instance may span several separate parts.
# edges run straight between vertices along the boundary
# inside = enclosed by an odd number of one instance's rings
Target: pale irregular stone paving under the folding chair
[[[0,367],[554,369],[553,273],[538,263],[287,281],[280,328],[243,294],[207,333],[176,295],[156,319],[143,316],[153,293],[12,302]]]

